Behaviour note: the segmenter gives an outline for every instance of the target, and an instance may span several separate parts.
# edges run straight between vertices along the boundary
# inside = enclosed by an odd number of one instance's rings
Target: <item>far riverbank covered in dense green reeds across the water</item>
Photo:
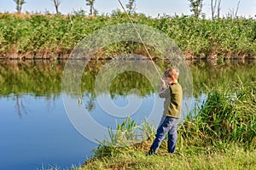
[[[186,59],[256,59],[256,22],[245,18],[197,19],[166,16],[157,19],[132,14],[137,24],[152,26],[171,37]],[[84,37],[104,26],[129,23],[113,11],[96,17],[83,14],[0,14],[1,59],[67,59]],[[148,47],[150,48],[150,47]],[[102,48],[96,59],[119,54],[146,55],[142,44],[120,42]],[[152,49],[150,54],[158,56]]]

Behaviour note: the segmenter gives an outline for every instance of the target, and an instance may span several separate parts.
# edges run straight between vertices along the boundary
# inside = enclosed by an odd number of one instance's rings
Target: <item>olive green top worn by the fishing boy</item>
[[[166,98],[164,103],[164,115],[175,118],[181,117],[183,105],[183,89],[179,83],[171,84],[159,93],[160,98]]]

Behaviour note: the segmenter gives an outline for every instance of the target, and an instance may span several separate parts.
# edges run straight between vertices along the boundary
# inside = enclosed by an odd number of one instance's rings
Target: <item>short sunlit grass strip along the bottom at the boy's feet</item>
[[[120,152],[87,162],[80,169],[256,169],[256,150],[145,156],[143,150]]]

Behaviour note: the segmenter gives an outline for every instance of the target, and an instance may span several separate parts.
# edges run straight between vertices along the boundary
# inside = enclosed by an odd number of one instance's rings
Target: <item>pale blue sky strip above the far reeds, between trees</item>
[[[29,13],[49,11],[55,13],[55,7],[52,0],[25,0],[22,12]],[[128,0],[121,0],[125,5]],[[204,0],[202,12],[209,18],[211,17],[211,0]],[[221,15],[226,15],[230,10],[236,10],[239,0],[222,0]],[[100,14],[111,13],[114,9],[121,9],[118,0],[96,0],[95,8]],[[84,9],[89,11],[89,7],[85,5],[85,0],[61,0],[59,7],[61,14],[72,14],[74,10]],[[137,13],[143,13],[151,17],[158,14],[192,14],[189,9],[188,0],[136,0]],[[0,12],[15,12],[15,3],[13,0],[0,0]],[[256,14],[256,0],[240,0],[238,15],[245,17],[254,17]],[[255,17],[254,17],[255,18]]]

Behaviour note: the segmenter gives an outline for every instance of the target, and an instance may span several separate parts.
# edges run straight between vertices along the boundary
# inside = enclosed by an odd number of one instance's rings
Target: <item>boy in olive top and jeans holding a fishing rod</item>
[[[165,98],[166,100],[164,102],[163,116],[157,128],[154,142],[148,151],[148,155],[157,153],[166,133],[168,133],[168,152],[173,153],[175,150],[177,142],[177,121],[181,117],[183,103],[183,90],[181,85],[177,82],[178,73],[177,69],[167,69],[164,72],[165,80],[160,81],[161,88],[159,95],[160,98]]]

